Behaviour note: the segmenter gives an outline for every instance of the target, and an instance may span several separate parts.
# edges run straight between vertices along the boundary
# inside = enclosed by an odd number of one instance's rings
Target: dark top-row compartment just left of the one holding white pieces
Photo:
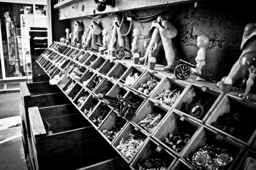
[[[129,68],[128,65],[121,63],[121,62],[117,62],[116,65],[114,65],[114,67],[109,71],[109,73],[107,74],[107,76],[111,79],[113,79],[114,81],[118,82],[119,79],[122,77],[122,75],[125,73],[125,71]],[[119,76],[119,79],[114,79],[112,77],[116,77]]]

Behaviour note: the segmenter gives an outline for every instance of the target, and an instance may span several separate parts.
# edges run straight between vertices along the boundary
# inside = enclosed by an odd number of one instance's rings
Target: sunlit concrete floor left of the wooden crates
[[[0,94],[0,119],[18,116],[20,93]],[[0,130],[0,170],[27,170],[22,144],[21,127]],[[4,140],[20,136],[4,142]]]

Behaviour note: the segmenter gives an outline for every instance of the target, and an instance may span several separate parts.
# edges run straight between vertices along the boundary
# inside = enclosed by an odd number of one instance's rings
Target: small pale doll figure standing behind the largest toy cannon
[[[195,61],[197,63],[196,70],[201,73],[201,69],[205,65],[205,57],[206,57],[206,46],[209,43],[209,38],[205,35],[201,35],[197,38],[197,46],[200,48],[198,50],[198,55],[195,57]],[[201,80],[200,77],[197,77],[196,80]]]

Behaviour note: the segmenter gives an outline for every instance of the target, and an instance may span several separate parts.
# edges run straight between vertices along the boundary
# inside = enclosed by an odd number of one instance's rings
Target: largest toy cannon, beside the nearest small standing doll
[[[196,70],[196,65],[191,64],[190,62],[186,62],[180,59],[180,63],[178,63],[175,67],[174,74],[177,79],[185,80],[190,77],[190,75],[195,74],[198,77],[201,77],[207,81],[213,81],[209,77],[206,77],[204,74],[199,73]]]

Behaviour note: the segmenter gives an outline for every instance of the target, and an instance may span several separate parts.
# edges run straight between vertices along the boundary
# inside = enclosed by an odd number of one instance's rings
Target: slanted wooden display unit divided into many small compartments
[[[56,51],[55,48],[61,48],[63,50],[59,52]],[[78,55],[74,57],[74,54]],[[236,139],[235,137],[226,134],[221,130],[212,128],[208,124],[208,122],[212,122],[215,120],[214,116],[215,113],[218,112],[218,108],[224,107],[224,103],[222,103],[223,101],[234,102],[237,105],[243,105],[256,112],[256,105],[254,103],[245,103],[236,96],[221,93],[216,87],[215,83],[195,83],[193,77],[192,79],[189,79],[189,81],[180,81],[175,78],[174,74],[161,71],[161,69],[163,68],[162,65],[156,65],[157,71],[146,71],[146,66],[134,65],[132,63],[132,60],[113,60],[113,58],[109,56],[79,50],[77,48],[61,44],[59,42],[54,42],[49,48],[47,48],[47,50],[44,51],[41,57],[38,58],[37,62],[38,65],[40,65],[44,69],[44,71],[48,74],[50,78],[53,78],[55,75],[59,75],[60,77],[64,75],[61,82],[58,83],[58,87],[64,94],[66,94],[68,99],[70,99],[70,102],[79,110],[79,112],[85,117],[85,119],[87,119],[93,125],[93,127],[98,130],[99,133],[108,141],[108,143],[111,144],[111,146],[120,154],[120,156],[122,156],[125,161],[130,164],[130,167],[133,170],[135,170],[136,166],[140,164],[141,161],[146,159],[148,155],[152,154],[152,152],[156,150],[156,147],[158,145],[163,145],[163,150],[165,151],[165,154],[170,157],[168,170],[180,170],[180,168],[182,168],[182,170],[183,168],[192,169],[193,166],[189,163],[189,161],[187,161],[187,158],[191,158],[192,154],[195,152],[195,150],[198,149],[199,146],[205,144],[214,144],[215,137],[219,135],[224,136],[222,143],[226,147],[228,147],[227,149],[230,149],[234,153],[234,160],[232,164],[230,164],[228,170],[233,170],[236,167],[236,165],[239,163],[239,160],[243,157],[242,153],[245,152],[246,148],[249,148],[250,150],[256,150],[256,131],[251,134],[251,137],[250,139],[248,139],[248,141],[241,141],[240,139]],[[102,74],[102,72],[99,71],[101,70],[101,66],[106,64],[106,62],[113,63],[113,67],[111,70],[108,70],[108,73]],[[83,73],[79,79],[74,79],[72,77],[73,67],[70,66],[78,67],[79,70]],[[140,79],[137,80],[137,82],[132,87],[127,87],[123,84],[122,81],[112,78],[112,73],[116,73],[117,71],[119,73],[122,73],[123,75],[127,75],[127,70],[131,71],[131,67],[140,67],[140,69],[142,69],[140,71]],[[172,105],[172,107],[161,105],[156,100],[154,100],[154,92],[149,95],[145,95],[137,91],[136,84],[142,81],[142,79],[145,79],[143,77],[148,77],[148,74],[153,74],[160,80],[158,85],[159,92],[161,90],[165,90],[161,89],[160,87],[167,88],[170,86],[170,84],[182,89],[182,93],[180,94],[174,105]],[[84,83],[84,81],[90,81],[96,75],[102,77],[102,81],[98,85],[96,85],[94,89],[88,88],[87,84]],[[67,87],[72,83],[74,84],[73,87],[68,93],[66,93]],[[133,94],[137,95],[143,100],[140,108],[136,111],[134,117],[130,120],[124,119],[126,123],[124,124],[122,130],[119,132],[119,135],[115,139],[113,139],[113,141],[109,141],[102,133],[103,128],[113,126],[111,125],[112,121],[110,121],[110,119],[115,120],[116,116],[118,116],[117,111],[113,107],[107,106],[109,107],[110,111],[105,117],[104,121],[99,126],[94,125],[93,122],[89,119],[90,116],[97,114],[97,110],[102,107],[102,101],[98,99],[93,99],[92,96],[94,94],[97,94],[97,89],[99,90],[100,87],[106,85],[108,85],[110,88],[107,93],[110,96],[122,94],[124,98],[128,98],[131,96],[131,94]],[[209,88],[207,88],[206,91],[203,91],[203,86]],[[233,89],[233,91],[235,90],[236,89]],[[204,93],[204,95],[211,96],[214,99],[212,107],[209,109],[203,119],[196,119],[195,117],[184,113],[182,110],[182,106],[180,105],[180,103],[184,101],[190,102],[192,96],[195,95],[195,91],[200,91],[201,93]],[[81,107],[78,107],[78,105],[76,104],[76,99],[79,96],[84,95],[84,93],[88,93],[89,96],[81,105]],[[76,95],[74,96],[74,94]],[[92,107],[92,105],[96,105],[93,111],[89,114],[84,113],[84,109],[88,109]],[[152,133],[148,133],[142,127],[137,125],[137,122],[139,119],[144,119],[147,114],[154,111],[161,111],[164,113],[164,116],[160,124],[157,126],[156,130],[154,130]],[[174,150],[172,150],[172,148],[163,144],[161,142],[161,138],[165,135],[163,134],[164,132],[167,133],[169,131],[170,127],[173,128],[173,131],[177,131],[177,129],[179,128],[177,121],[181,117],[187,122],[188,128],[190,129],[191,127],[191,129],[194,130],[191,134],[191,140],[189,141],[189,143],[186,144],[186,147],[184,147],[182,152],[178,154]],[[120,153],[116,149],[116,146],[122,138],[127,139],[129,133],[134,133],[135,129],[137,130],[137,132],[143,134],[145,141],[143,146],[140,147],[139,150],[137,150],[135,156],[128,160],[125,158],[125,156],[122,155],[122,153]],[[242,166],[242,164],[239,163],[239,166]]]

